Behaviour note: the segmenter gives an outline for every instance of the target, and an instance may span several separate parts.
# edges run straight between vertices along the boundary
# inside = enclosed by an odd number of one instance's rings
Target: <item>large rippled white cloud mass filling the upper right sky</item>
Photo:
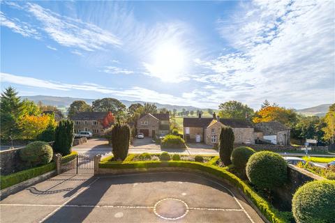
[[[195,60],[215,73],[200,81],[222,86],[209,100],[242,100],[256,107],[265,98],[288,107],[334,102],[334,1],[243,4],[245,10],[230,23],[218,22],[221,36],[237,51]]]

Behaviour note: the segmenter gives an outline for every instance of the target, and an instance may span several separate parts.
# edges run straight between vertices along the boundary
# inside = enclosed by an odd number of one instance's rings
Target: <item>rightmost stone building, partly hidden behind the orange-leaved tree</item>
[[[271,144],[290,145],[290,128],[278,121],[256,123],[255,128],[262,131],[263,139],[271,141]]]

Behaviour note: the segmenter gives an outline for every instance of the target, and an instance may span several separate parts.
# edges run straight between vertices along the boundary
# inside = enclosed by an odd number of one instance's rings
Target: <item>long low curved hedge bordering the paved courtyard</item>
[[[269,222],[273,223],[285,223],[290,222],[288,220],[287,213],[279,212],[271,206],[271,204],[260,197],[251,187],[249,187],[244,181],[235,176],[234,174],[226,171],[221,167],[214,166],[214,164],[218,161],[219,157],[213,157],[207,163],[200,162],[190,162],[190,161],[174,161],[170,160],[168,162],[161,161],[137,161],[137,162],[111,162],[109,159],[102,160],[99,163],[99,168],[107,168],[107,169],[149,169],[155,167],[184,167],[188,169],[198,169],[200,171],[207,172],[209,174],[213,174],[219,178],[223,178],[228,180],[232,185],[238,187],[241,192],[246,194],[247,197],[255,203],[255,206],[261,211],[261,213],[269,220]]]

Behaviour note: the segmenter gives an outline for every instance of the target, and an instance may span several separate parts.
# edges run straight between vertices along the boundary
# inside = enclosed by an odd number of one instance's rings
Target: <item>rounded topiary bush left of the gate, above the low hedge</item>
[[[47,164],[52,160],[51,146],[45,141],[34,141],[20,150],[20,158],[26,162],[27,167],[36,167]]]

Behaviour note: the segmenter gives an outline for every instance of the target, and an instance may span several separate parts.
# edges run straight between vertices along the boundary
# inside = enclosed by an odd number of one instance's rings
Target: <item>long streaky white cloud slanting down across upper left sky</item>
[[[114,34],[94,24],[61,16],[36,3],[27,3],[27,10],[43,24],[41,29],[60,45],[77,47],[86,51],[103,49],[105,45],[114,47],[121,45],[121,40]]]

